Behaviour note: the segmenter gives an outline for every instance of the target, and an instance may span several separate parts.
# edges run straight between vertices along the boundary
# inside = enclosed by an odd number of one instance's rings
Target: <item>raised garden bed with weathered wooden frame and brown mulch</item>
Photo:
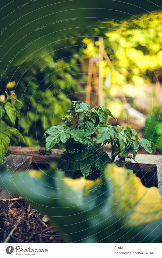
[[[46,169],[51,161],[58,161],[62,150],[52,149],[41,152],[38,148],[9,147],[5,165],[12,177],[16,171],[28,169]],[[109,154],[110,155],[110,154]],[[162,158],[160,155],[138,154],[136,161],[122,160],[122,166],[132,169],[142,178],[141,170],[146,178],[146,186],[159,187],[162,194],[161,174]],[[0,165],[1,169],[5,165]],[[142,179],[143,181],[143,179]],[[0,190],[0,242],[2,243],[63,243],[54,226],[50,225],[44,214],[41,215],[20,196],[12,195],[5,189]]]

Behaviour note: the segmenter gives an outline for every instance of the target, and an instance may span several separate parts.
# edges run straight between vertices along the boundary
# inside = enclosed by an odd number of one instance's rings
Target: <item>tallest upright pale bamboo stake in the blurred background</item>
[[[98,76],[98,105],[102,106],[103,99],[103,72],[102,72],[102,62],[103,62],[103,38],[99,37],[99,76]]]

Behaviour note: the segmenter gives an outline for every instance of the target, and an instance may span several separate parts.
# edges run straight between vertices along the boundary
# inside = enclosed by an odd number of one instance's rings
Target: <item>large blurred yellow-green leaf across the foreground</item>
[[[156,187],[146,188],[132,171],[105,169],[95,180],[64,177],[60,170],[6,172],[0,184],[23,195],[47,215],[67,242],[160,243],[162,197]]]

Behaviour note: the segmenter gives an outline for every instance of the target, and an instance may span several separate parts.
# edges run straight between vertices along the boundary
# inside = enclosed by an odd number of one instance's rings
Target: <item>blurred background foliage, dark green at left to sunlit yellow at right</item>
[[[0,88],[4,92],[7,85],[8,93],[15,90],[19,99],[23,94],[21,132],[26,144],[42,145],[44,131],[60,124],[71,100],[84,100],[86,59],[93,56],[96,67],[99,64],[98,36],[103,36],[105,52],[115,68],[111,72],[111,86],[133,83],[142,87],[144,83],[161,81],[161,16],[162,12],[154,12],[122,22],[102,19],[92,27],[82,28],[82,32],[77,31],[76,37],[58,40],[37,51],[26,62],[23,56],[21,60],[17,58],[15,66],[8,69],[8,76],[1,78]],[[108,97],[106,80],[110,68],[105,60],[102,67]],[[12,81],[16,81],[16,87]],[[105,101],[109,102],[106,98]]]

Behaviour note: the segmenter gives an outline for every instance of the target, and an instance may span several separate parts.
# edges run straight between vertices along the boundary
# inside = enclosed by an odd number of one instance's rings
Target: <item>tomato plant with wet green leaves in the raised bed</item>
[[[67,126],[52,126],[45,131],[43,137],[47,151],[60,143],[65,149],[59,167],[66,171],[67,176],[96,178],[104,173],[107,163],[119,164],[115,161],[119,153],[127,157],[131,147],[133,159],[140,146],[148,153],[155,150],[154,143],[138,137],[134,129],[107,123],[108,116],[114,118],[110,110],[103,106],[90,108],[89,104],[73,101],[73,107],[63,118]],[[72,119],[75,126],[68,124]],[[103,150],[107,143],[111,144],[111,157]]]

